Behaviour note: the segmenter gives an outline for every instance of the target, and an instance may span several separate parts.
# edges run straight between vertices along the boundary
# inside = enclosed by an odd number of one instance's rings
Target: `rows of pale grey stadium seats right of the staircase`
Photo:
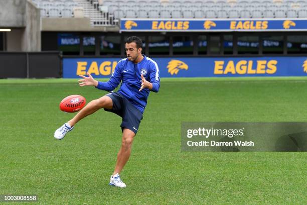
[[[124,6],[123,1],[120,2],[119,5]],[[126,2],[132,5],[131,8],[139,6],[142,10],[142,13],[136,12],[133,18],[305,18],[307,15],[305,13],[307,1],[302,0],[155,0],[147,2],[126,0]],[[112,7],[111,1],[107,0],[102,1],[101,5]],[[124,8],[120,9],[125,11]],[[109,10],[110,14],[112,12]]]

